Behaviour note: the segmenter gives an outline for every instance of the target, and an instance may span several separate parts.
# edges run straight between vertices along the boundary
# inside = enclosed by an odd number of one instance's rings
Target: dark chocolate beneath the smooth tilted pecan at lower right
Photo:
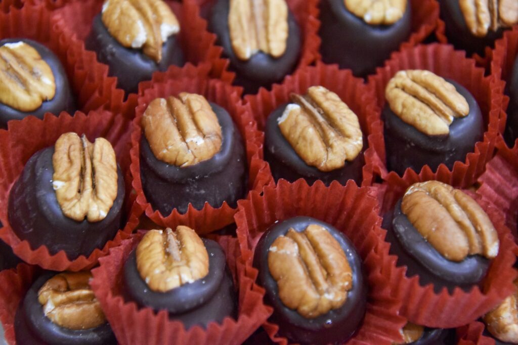
[[[401,199],[394,211],[385,215],[383,225],[386,241],[391,243],[390,253],[398,257],[397,265],[407,266],[407,277],[418,275],[422,286],[434,284],[436,293],[443,287],[451,293],[457,286],[470,291],[484,279],[491,264],[481,255],[467,256],[462,262],[444,258],[402,213]]]

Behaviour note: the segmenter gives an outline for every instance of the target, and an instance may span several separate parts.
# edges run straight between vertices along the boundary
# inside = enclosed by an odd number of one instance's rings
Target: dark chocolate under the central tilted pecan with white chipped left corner
[[[299,178],[305,179],[310,185],[316,180],[322,180],[329,185],[334,180],[346,184],[348,180],[356,183],[362,182],[362,167],[364,164],[363,150],[351,162],[346,161],[342,168],[332,171],[320,171],[314,166],[307,165],[293,149],[290,142],[284,138],[279,128],[277,119],[282,116],[287,103],[275,109],[266,120],[264,155],[270,164],[271,174],[275,181],[285,179],[294,182]],[[364,137],[364,147],[366,140]]]

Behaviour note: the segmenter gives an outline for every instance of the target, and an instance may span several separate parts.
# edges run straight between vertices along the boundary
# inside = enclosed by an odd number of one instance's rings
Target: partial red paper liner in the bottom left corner
[[[11,345],[16,344],[16,310],[31,287],[37,270],[35,266],[19,264],[16,268],[0,271],[0,321],[4,327],[5,340]]]

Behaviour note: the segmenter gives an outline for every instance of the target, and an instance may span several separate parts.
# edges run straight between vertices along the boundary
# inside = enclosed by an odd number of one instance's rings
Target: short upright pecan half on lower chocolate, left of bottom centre
[[[137,246],[137,270],[149,288],[167,292],[209,273],[209,254],[193,229],[151,230]]]

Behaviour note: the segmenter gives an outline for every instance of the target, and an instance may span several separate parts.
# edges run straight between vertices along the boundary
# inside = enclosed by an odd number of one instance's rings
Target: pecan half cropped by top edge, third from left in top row
[[[407,9],[407,0],[344,0],[346,8],[371,25],[391,25]]]

